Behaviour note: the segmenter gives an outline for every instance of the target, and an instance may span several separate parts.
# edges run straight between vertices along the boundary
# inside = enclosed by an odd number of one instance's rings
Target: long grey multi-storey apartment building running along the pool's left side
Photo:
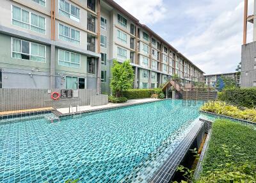
[[[0,88],[110,92],[113,60],[131,60],[134,88],[204,72],[112,0],[4,0]]]

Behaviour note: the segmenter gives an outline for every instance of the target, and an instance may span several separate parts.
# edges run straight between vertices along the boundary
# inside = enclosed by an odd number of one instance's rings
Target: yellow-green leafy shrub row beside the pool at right
[[[230,116],[256,122],[256,109],[239,109],[236,106],[230,106],[225,102],[207,102],[201,107],[202,111],[216,113],[217,115]]]

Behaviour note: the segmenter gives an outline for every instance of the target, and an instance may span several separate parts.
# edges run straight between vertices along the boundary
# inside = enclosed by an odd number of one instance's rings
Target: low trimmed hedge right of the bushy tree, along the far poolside
[[[123,96],[127,99],[144,99],[150,98],[152,94],[160,94],[162,93],[161,88],[154,88],[154,89],[131,89],[125,90],[123,92]]]

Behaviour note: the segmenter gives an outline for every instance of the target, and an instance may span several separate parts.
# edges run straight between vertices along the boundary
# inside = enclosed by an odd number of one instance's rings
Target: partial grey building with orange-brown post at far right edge
[[[253,42],[247,43],[247,24],[253,24]],[[248,16],[248,0],[244,0],[244,31],[241,57],[241,87],[256,86],[256,1],[253,15]]]

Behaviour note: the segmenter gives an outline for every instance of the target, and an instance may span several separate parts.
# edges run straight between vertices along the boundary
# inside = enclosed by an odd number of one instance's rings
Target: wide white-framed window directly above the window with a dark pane
[[[12,6],[12,24],[45,34],[45,18],[17,6]]]

